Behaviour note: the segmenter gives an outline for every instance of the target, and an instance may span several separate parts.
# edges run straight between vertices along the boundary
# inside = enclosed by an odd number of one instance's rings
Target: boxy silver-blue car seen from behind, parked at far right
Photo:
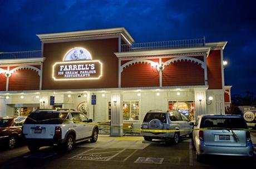
[[[253,143],[240,115],[200,115],[194,126],[192,144],[196,159],[204,155],[253,156]]]

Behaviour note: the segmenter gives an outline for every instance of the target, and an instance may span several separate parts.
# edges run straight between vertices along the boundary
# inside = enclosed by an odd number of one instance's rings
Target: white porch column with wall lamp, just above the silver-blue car
[[[208,114],[206,112],[206,88],[195,88],[195,118],[198,115]]]

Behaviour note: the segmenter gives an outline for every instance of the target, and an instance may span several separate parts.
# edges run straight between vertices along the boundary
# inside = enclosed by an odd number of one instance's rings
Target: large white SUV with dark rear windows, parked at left
[[[42,146],[63,146],[71,151],[77,142],[96,142],[99,127],[82,112],[67,110],[36,110],[23,124],[23,136],[30,151]]]

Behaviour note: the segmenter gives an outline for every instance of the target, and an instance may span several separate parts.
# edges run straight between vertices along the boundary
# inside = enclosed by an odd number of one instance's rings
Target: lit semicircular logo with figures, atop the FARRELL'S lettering
[[[63,61],[92,60],[90,52],[84,48],[73,48],[68,50]]]

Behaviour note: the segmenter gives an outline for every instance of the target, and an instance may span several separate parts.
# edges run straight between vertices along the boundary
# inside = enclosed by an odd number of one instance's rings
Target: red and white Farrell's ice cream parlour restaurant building
[[[179,110],[193,120],[224,114],[230,104],[232,86],[224,85],[223,65],[227,42],[134,43],[125,28],[37,37],[41,50],[0,53],[1,116],[61,107],[139,129],[149,110]]]

